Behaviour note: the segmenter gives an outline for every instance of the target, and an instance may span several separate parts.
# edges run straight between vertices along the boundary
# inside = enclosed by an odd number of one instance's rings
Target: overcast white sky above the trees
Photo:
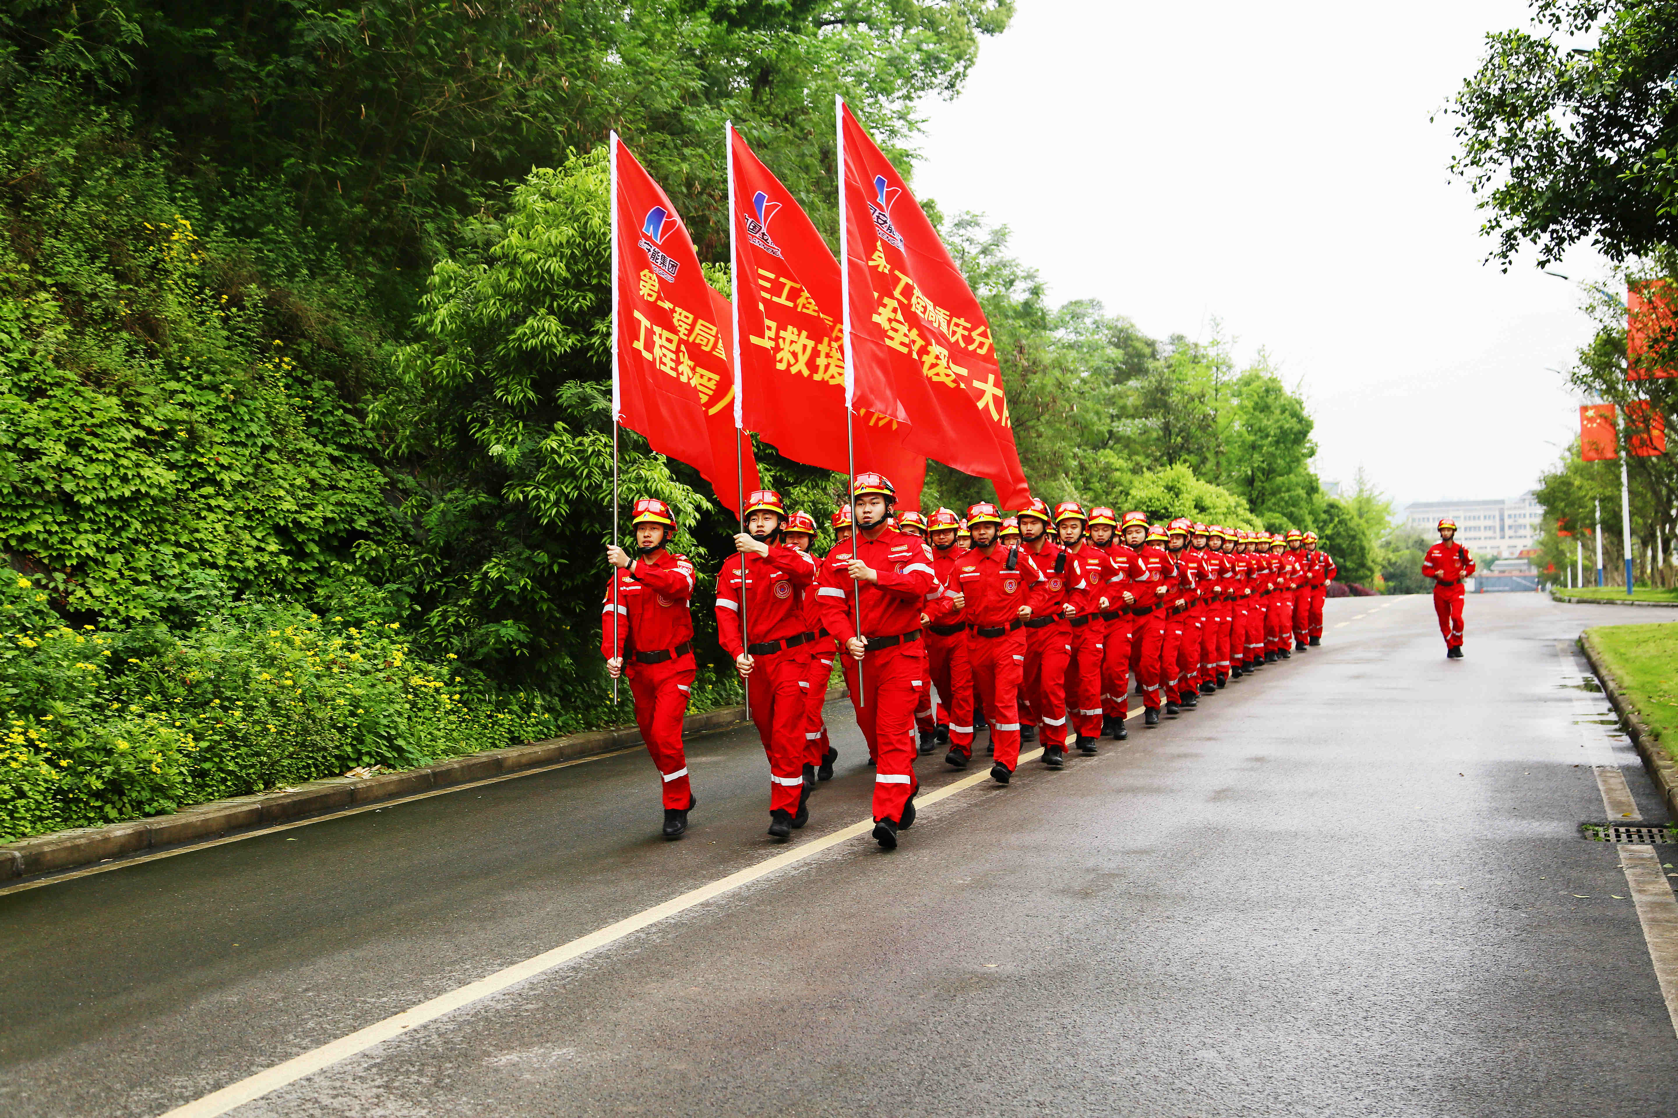
[[[1020,0],[928,102],[916,193],[1014,231],[1055,302],[1258,347],[1317,421],[1317,473],[1396,503],[1515,496],[1577,432],[1574,283],[1503,275],[1441,109],[1517,0]],[[1601,278],[1577,253],[1556,267]]]

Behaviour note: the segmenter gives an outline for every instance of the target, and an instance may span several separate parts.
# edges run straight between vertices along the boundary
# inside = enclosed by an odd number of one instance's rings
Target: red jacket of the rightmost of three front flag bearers
[[[856,558],[879,577],[878,583],[856,583],[847,572]],[[861,587],[864,637],[896,637],[921,627],[921,610],[943,592],[933,575],[933,556],[918,536],[883,528],[873,540],[856,533],[822,560],[817,577],[822,627],[844,644],[856,632],[852,587]]]

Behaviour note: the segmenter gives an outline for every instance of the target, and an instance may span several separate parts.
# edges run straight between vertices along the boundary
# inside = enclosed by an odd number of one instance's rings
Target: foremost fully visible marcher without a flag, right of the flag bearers
[[[990,501],[967,510],[973,546],[955,565],[951,603],[967,617],[973,696],[990,721],[990,778],[1007,784],[1020,763],[1020,682],[1025,622],[1044,577],[1032,556],[1000,540],[1002,511]]]

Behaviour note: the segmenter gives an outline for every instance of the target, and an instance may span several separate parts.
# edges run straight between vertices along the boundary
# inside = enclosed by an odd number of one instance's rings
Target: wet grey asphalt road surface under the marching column
[[[1321,649],[1200,711],[235,1113],[1670,1113],[1673,1021],[1616,848],[1579,838],[1591,749],[1666,816],[1564,644],[1666,617],[1475,597],[1453,662],[1426,598],[1329,602]],[[829,716],[790,846],[868,815]],[[678,843],[636,751],[0,895],[0,1113],[163,1113],[784,850],[755,734],[690,764]]]

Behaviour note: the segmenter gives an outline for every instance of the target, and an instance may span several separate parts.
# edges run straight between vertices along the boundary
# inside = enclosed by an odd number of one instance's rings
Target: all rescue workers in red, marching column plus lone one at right
[[[1285,535],[1143,511],[1032,499],[1017,516],[980,501],[960,516],[896,510],[888,478],[859,473],[814,553],[816,521],[779,493],[750,494],[735,555],[717,575],[717,637],[733,659],[769,761],[769,835],[785,840],[839,751],[824,704],[839,662],[874,769],[874,840],[894,850],[915,823],[915,763],[945,744],[972,763],[988,731],[990,778],[1008,784],[1022,743],[1047,768],[1069,741],[1094,754],[1143,724],[1267,664],[1322,644],[1322,603],[1339,573],[1316,533]],[[670,551],[676,513],[643,498],[636,553],[607,546],[601,610],[607,672],[629,681],[636,724],[661,778],[666,838],[695,808],[681,721],[695,679],[693,563]],[[1423,573],[1448,655],[1462,657],[1463,578],[1473,560],[1440,521]],[[1134,691],[1131,687],[1134,681]],[[1071,727],[1071,729],[1069,729]]]

